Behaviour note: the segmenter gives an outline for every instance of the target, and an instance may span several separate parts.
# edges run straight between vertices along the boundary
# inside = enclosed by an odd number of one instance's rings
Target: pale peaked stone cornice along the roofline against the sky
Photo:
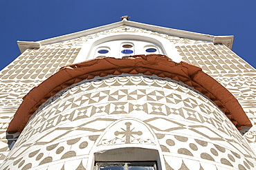
[[[39,43],[39,46],[40,46],[40,45],[47,45],[47,44],[51,44],[51,43],[58,43],[58,42],[62,42],[62,41],[68,41],[71,39],[76,39],[81,36],[94,34],[97,32],[104,31],[104,30],[118,28],[122,25],[127,25],[127,26],[131,26],[131,27],[136,27],[136,28],[142,28],[142,29],[146,29],[146,30],[150,30],[150,31],[154,31],[154,32],[161,32],[163,34],[168,34],[170,36],[177,36],[177,37],[181,37],[181,38],[185,38],[185,39],[208,41],[208,42],[212,42],[212,43],[222,43],[222,44],[226,45],[228,48],[230,48],[230,50],[232,50],[232,43],[234,40],[234,36],[213,36],[213,35],[209,35],[209,34],[201,34],[201,33],[189,32],[189,31],[184,31],[184,30],[176,30],[173,28],[165,28],[165,27],[156,26],[156,25],[149,25],[146,23],[127,21],[124,19],[124,20],[116,22],[116,23],[102,25],[100,27],[91,28],[89,30],[83,30],[80,32],[74,32],[74,33],[66,34],[66,35],[62,35],[62,36],[56,36],[51,39],[45,39],[45,40],[36,41],[36,42],[17,41],[17,43],[19,45],[19,50],[22,53],[26,49],[28,49],[30,47],[34,47],[33,45],[35,43]],[[22,43],[20,43],[20,42],[22,42]],[[35,48],[38,48],[38,45]]]

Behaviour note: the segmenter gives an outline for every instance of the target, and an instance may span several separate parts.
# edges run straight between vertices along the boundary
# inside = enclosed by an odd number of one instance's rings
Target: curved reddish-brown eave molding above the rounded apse
[[[175,63],[164,55],[150,54],[147,56],[130,56],[127,59],[102,57],[62,67],[59,72],[53,74],[39,86],[31,89],[24,96],[24,100],[17,109],[7,131],[21,132],[38,107],[48,98],[60,92],[60,90],[84,79],[122,73],[155,74],[159,77],[168,77],[175,81],[181,81],[210,98],[237,129],[241,129],[241,126],[252,126],[237,99],[214,78],[205,74],[200,67],[183,61]]]

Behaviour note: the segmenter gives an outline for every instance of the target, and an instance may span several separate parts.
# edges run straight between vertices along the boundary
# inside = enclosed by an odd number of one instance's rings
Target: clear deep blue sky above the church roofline
[[[212,35],[234,35],[232,50],[256,67],[255,0],[1,1],[0,70],[17,56],[17,41],[39,41],[120,21]]]

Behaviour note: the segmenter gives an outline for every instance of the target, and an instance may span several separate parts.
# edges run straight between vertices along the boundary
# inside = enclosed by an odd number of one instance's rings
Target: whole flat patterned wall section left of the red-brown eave
[[[0,163],[19,137],[6,129],[22,98],[46,78],[73,63],[80,48],[28,49],[0,72]]]

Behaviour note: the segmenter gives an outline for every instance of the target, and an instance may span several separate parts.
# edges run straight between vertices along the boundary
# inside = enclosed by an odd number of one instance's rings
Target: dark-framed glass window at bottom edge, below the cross
[[[156,170],[156,162],[97,162],[95,170]]]

